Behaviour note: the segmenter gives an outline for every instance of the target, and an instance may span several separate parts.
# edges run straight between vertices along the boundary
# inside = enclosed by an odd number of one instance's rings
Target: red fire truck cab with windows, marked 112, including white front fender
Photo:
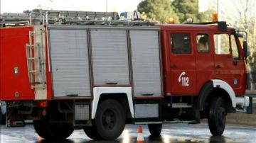
[[[237,31],[218,24],[160,25],[166,95],[207,98],[201,92],[210,85],[228,93],[233,107],[240,104],[235,97],[245,93],[244,51]]]

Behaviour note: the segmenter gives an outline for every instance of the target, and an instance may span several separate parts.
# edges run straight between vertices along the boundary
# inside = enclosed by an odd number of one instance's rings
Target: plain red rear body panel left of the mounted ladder
[[[26,43],[33,27],[0,28],[0,100],[33,100]]]

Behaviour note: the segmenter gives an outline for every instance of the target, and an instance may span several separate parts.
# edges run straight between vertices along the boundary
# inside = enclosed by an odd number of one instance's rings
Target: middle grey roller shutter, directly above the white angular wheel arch
[[[92,29],[94,85],[129,85],[127,31]]]

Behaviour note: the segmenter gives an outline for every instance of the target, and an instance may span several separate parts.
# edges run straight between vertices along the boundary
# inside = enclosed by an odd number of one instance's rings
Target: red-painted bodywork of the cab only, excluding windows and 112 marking
[[[161,46],[164,74],[164,91],[167,96],[197,96],[206,82],[211,79],[221,79],[227,82],[236,95],[245,93],[245,60],[238,40],[239,59],[233,55],[217,55],[214,49],[213,35],[220,33],[217,25],[159,25],[161,27]],[[171,53],[170,34],[188,33],[191,41],[191,54],[174,55]],[[232,34],[233,29],[221,32]],[[210,52],[200,53],[196,49],[196,35],[209,36]],[[237,62],[235,65],[234,62]],[[220,68],[218,68],[220,67]],[[189,86],[182,86],[178,76],[186,71],[189,77]],[[238,84],[234,85],[234,80]]]

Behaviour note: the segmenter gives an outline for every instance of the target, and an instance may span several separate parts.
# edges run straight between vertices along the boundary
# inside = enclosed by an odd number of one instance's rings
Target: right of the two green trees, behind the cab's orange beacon
[[[174,0],[172,4],[181,23],[186,22],[187,18],[198,22],[198,0]]]

